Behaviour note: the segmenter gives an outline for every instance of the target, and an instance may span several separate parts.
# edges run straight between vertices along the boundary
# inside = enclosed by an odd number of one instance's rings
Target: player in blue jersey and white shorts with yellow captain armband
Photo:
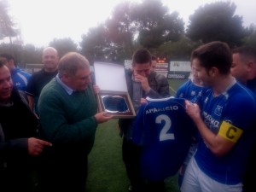
[[[186,101],[201,140],[183,177],[182,192],[242,191],[242,177],[256,130],[256,101],[230,73],[228,44],[212,42],[195,49],[195,71],[209,89],[198,104]]]

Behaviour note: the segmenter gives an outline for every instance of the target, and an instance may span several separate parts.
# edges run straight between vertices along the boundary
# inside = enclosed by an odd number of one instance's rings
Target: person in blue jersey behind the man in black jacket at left
[[[3,53],[0,56],[7,60],[6,66],[9,68],[9,71],[11,72],[11,77],[14,86],[17,88],[17,90],[25,91],[28,81],[31,78],[31,74],[26,73],[25,71],[17,67],[15,64],[15,58],[12,55]]]

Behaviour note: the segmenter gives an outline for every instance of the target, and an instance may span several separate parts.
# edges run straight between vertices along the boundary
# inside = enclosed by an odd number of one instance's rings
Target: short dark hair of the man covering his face
[[[148,49],[137,49],[137,51],[132,55],[132,66],[135,64],[150,63],[151,65],[152,55]]]

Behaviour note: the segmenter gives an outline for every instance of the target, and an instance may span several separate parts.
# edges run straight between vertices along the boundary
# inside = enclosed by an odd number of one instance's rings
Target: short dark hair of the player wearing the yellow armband
[[[232,65],[232,53],[230,46],[224,42],[213,41],[203,44],[195,49],[191,54],[191,61],[198,59],[201,67],[205,67],[209,71],[212,67],[217,67],[219,73],[230,73]]]

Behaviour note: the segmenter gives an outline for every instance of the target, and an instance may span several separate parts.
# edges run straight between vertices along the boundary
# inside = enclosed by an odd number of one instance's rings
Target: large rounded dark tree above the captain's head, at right
[[[240,45],[246,36],[242,17],[235,15],[236,4],[230,2],[207,3],[189,17],[187,36],[194,41],[208,43],[219,40],[230,46]]]

